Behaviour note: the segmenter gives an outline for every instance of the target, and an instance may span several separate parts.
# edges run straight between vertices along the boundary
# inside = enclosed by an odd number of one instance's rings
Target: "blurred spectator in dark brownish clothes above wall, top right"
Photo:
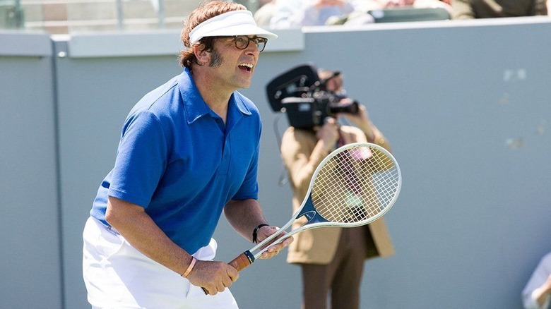
[[[546,0],[451,0],[453,19],[547,15]]]

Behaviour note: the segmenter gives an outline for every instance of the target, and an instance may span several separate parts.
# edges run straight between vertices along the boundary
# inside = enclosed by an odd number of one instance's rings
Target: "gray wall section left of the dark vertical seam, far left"
[[[0,55],[0,308],[61,308],[52,42],[0,34]]]

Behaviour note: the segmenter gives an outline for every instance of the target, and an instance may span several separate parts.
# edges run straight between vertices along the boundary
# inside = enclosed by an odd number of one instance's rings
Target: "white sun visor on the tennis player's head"
[[[203,37],[232,35],[258,35],[272,40],[278,37],[275,33],[263,30],[254,21],[247,10],[229,11],[203,21],[189,32],[189,43],[195,44]]]

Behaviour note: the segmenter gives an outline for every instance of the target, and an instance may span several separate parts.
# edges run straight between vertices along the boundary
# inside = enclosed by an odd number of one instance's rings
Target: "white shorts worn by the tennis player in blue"
[[[90,217],[83,232],[83,278],[92,308],[235,309],[229,289],[215,296],[151,260],[120,234]],[[194,253],[213,260],[216,241]]]

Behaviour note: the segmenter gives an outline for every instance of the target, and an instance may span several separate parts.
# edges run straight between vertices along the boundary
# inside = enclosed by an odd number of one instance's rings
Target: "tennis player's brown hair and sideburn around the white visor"
[[[242,4],[237,4],[234,2],[201,1],[199,7],[189,13],[189,16],[184,21],[184,28],[180,34],[180,40],[182,40],[182,43],[184,43],[184,46],[187,48],[180,51],[180,65],[185,66],[186,68],[191,68],[191,63],[197,63],[194,50],[191,48],[191,44],[189,43],[189,32],[191,32],[191,30],[193,30],[200,23],[203,23],[203,21],[213,18],[214,16],[237,10],[247,10],[247,8]],[[203,48],[201,50],[211,52],[214,47],[214,38],[203,37],[196,44],[203,44]]]

